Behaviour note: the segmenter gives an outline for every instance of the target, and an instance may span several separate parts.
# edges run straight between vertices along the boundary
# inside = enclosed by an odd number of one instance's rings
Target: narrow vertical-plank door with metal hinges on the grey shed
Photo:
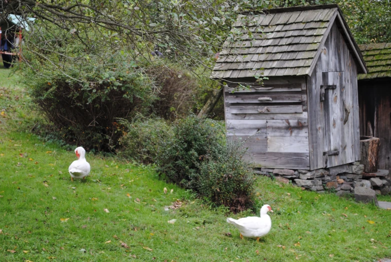
[[[349,130],[353,132],[350,125],[346,125],[347,102],[345,102],[344,72],[322,73],[322,85],[320,86],[320,101],[323,106],[324,119],[324,167],[331,167],[352,162],[350,151],[347,148],[346,138],[353,138],[353,133],[349,136]],[[349,111],[350,109],[348,109]],[[347,118],[346,118],[347,117]],[[351,117],[350,117],[351,119]],[[350,143],[349,143],[350,144]],[[347,150],[346,150],[347,149]]]

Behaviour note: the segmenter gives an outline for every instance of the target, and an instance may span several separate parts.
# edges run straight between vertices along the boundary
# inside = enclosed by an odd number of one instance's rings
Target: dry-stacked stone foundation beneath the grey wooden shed
[[[386,195],[391,191],[391,175],[388,170],[376,173],[364,173],[364,166],[359,162],[316,170],[292,170],[257,168],[254,173],[274,176],[282,183],[293,185],[319,193],[334,190],[337,195],[354,193],[357,186],[373,189],[376,194]]]

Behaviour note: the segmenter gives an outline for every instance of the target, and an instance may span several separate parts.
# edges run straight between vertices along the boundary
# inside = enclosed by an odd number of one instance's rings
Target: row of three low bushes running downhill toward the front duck
[[[126,126],[123,156],[155,163],[169,182],[194,190],[216,206],[234,212],[251,208],[254,180],[242,160],[245,149],[239,142],[226,142],[221,121],[191,115],[171,125],[150,119]]]

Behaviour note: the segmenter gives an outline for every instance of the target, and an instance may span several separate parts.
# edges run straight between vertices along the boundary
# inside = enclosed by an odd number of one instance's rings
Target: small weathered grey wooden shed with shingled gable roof
[[[247,160],[305,170],[359,160],[357,74],[367,69],[338,6],[242,14],[232,32],[243,36],[227,39],[212,77],[227,84],[227,136],[245,141]]]

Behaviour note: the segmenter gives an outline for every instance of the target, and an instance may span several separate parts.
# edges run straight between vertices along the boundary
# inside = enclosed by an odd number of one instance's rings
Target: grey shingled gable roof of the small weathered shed
[[[358,62],[358,71],[365,72],[361,54],[338,6],[318,5],[240,15],[231,32],[243,35],[224,43],[212,78],[310,75],[336,18]]]

